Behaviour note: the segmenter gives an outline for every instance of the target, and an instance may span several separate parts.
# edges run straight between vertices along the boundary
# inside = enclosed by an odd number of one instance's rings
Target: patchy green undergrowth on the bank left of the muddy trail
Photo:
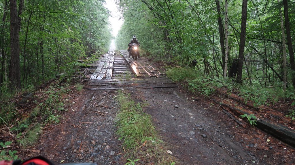
[[[0,90],[3,91],[4,89],[1,88]],[[32,87],[28,86],[22,92],[32,90]],[[61,101],[62,96],[70,91],[67,86],[49,86],[45,91],[39,93],[41,98],[37,96],[31,97],[35,98],[32,101],[35,106],[24,105],[24,107],[17,107],[17,104],[14,103],[12,98],[17,93],[6,93],[6,95],[10,96],[6,99],[1,97],[0,126],[6,131],[6,134],[14,136],[12,139],[16,139],[16,141],[13,141],[12,144],[24,148],[34,145],[42,131],[42,125],[59,122],[59,113],[65,111],[64,103]],[[4,96],[4,94],[2,93],[1,96]],[[27,110],[23,111],[22,109]],[[1,150],[3,152],[1,151],[0,159],[16,158],[16,151],[9,151],[4,147]]]

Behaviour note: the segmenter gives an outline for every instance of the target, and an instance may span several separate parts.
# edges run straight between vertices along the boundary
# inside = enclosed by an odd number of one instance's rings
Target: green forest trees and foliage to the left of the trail
[[[103,0],[1,0],[0,84],[38,85],[75,71],[112,39]],[[13,40],[12,40],[13,39]]]

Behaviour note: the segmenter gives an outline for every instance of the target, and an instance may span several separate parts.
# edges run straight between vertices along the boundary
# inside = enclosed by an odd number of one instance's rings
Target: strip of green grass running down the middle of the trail
[[[120,112],[116,116],[116,133],[123,141],[123,149],[127,150],[127,158],[152,164],[175,164],[175,158],[166,152],[165,143],[157,136],[152,118],[143,112],[142,105],[122,91],[117,100]]]

